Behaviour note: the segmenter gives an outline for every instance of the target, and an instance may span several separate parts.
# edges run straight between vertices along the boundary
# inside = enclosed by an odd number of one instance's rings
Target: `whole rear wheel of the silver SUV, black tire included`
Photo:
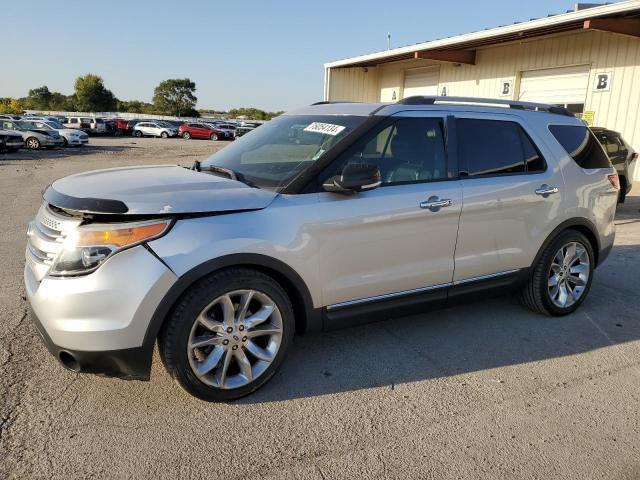
[[[532,267],[520,300],[527,308],[545,315],[574,312],[591,288],[594,258],[587,237],[576,230],[562,232]]]

